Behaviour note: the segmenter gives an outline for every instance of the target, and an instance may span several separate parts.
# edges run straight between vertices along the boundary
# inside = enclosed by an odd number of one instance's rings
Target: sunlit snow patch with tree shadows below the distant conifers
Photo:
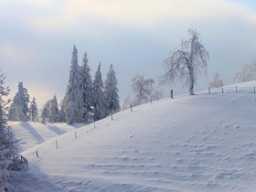
[[[9,122],[18,140],[18,151],[23,152],[28,148],[44,143],[50,138],[80,128],[82,124],[69,125],[66,123],[19,123]]]

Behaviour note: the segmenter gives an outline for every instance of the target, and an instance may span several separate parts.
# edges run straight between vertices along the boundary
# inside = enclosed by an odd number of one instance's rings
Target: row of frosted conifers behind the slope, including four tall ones
[[[11,103],[8,120],[42,123],[90,123],[101,120],[112,112],[120,110],[118,81],[112,67],[109,68],[106,80],[101,79],[101,62],[91,79],[87,53],[78,63],[78,49],[73,47],[71,65],[69,69],[69,83],[64,99],[60,106],[57,96],[46,102],[41,112],[38,112],[37,101],[34,97],[29,105],[29,94],[22,82],[18,84],[18,91]]]

